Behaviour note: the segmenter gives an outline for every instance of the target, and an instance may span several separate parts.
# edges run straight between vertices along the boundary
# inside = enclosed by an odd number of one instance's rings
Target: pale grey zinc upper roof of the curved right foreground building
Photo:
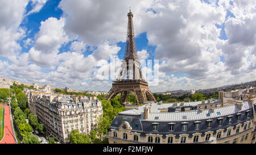
[[[236,114],[237,112],[245,111],[251,108],[251,104],[249,102],[243,102],[242,109],[238,109],[238,107],[234,104],[231,106],[215,108],[214,112],[212,110],[203,110],[199,111],[188,111],[188,112],[151,112],[148,114],[148,119],[146,121],[150,122],[180,122],[180,121],[188,121],[188,120],[201,120],[201,119],[212,119],[218,118],[222,116]],[[217,112],[221,114],[218,115]],[[210,116],[207,116],[210,114]],[[183,119],[183,116],[187,116],[187,119]],[[155,120],[155,117],[159,117],[158,120]],[[144,120],[141,118],[141,120]]]

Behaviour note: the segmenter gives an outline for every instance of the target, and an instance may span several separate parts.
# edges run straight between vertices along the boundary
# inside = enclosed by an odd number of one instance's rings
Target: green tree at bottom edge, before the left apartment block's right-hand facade
[[[69,140],[69,143],[71,144],[89,144],[90,143],[89,136],[79,133],[77,129],[74,129],[70,132],[68,140]]]

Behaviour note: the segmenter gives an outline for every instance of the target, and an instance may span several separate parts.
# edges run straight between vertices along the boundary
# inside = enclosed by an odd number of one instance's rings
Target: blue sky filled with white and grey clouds
[[[109,91],[129,7],[139,59],[159,60],[152,92],[256,79],[255,0],[0,0],[0,77]]]

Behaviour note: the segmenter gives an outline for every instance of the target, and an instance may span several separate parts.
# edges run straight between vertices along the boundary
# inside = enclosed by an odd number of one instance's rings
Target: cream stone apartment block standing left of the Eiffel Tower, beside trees
[[[103,114],[97,97],[38,94],[33,91],[29,95],[29,108],[46,127],[47,135],[61,143],[68,142],[73,129],[88,134],[96,128],[97,119]]]

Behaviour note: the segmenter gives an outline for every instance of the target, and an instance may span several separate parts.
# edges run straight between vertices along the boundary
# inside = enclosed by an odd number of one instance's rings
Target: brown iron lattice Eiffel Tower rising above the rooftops
[[[141,66],[137,56],[135,45],[135,36],[133,28],[133,14],[130,12],[128,16],[127,39],[125,47],[125,56],[122,60],[120,72],[115,81],[112,81],[112,88],[106,99],[110,100],[116,95],[121,94],[121,104],[127,104],[129,94],[134,94],[137,104],[143,104],[147,101],[156,102],[148,88],[148,83],[144,80]]]

